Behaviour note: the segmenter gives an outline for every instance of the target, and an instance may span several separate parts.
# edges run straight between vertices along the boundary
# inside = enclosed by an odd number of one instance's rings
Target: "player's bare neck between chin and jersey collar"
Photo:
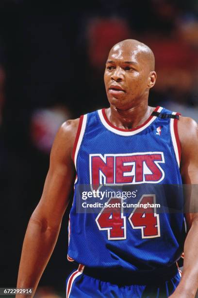
[[[107,118],[114,126],[129,130],[143,124],[153,111],[154,108],[149,107],[148,103],[144,103],[128,110],[119,110],[111,105],[105,112]]]

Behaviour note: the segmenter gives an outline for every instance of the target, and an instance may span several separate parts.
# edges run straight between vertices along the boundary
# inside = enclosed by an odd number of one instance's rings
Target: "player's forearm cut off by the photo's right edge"
[[[174,294],[195,297],[198,289],[198,220],[193,221],[184,244],[184,263],[181,281]]]

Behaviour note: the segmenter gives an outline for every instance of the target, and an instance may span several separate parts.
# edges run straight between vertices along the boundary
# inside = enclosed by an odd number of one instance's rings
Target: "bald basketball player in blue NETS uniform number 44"
[[[111,49],[104,74],[110,108],[67,121],[58,131],[43,194],[23,243],[18,288],[35,291],[57,241],[77,172],[68,260],[79,267],[67,279],[66,296],[195,296],[198,214],[185,215],[185,238],[181,213],[157,214],[153,209],[146,214],[138,208],[127,215],[108,214],[104,208],[97,215],[76,211],[78,185],[198,184],[198,126],[190,118],[148,106],[155,80],[148,46],[128,39]],[[136,202],[158,199],[143,194]],[[178,194],[175,199],[181,200]],[[184,241],[181,277],[176,262]]]

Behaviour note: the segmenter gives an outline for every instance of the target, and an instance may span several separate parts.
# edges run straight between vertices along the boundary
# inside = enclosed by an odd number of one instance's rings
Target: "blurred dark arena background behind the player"
[[[198,0],[0,0],[0,287],[16,286],[28,220],[49,167],[54,135],[68,118],[107,107],[110,48],[126,38],[151,47],[151,106],[198,121]],[[72,265],[66,213],[40,282],[64,297]]]

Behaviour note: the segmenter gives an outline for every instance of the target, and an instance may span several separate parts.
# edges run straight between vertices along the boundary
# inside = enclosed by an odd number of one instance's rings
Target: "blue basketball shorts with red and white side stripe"
[[[66,298],[165,298],[178,286],[181,273],[160,284],[117,285],[90,277],[83,272],[83,266],[72,271],[66,280]]]

